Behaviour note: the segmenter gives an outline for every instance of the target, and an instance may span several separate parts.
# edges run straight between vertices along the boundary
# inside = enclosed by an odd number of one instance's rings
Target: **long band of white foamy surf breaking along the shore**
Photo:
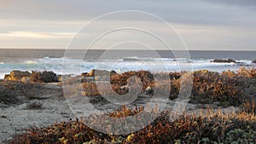
[[[68,65],[63,70],[63,61]],[[20,62],[0,62],[0,78],[4,74],[12,70],[20,71],[53,71],[57,74],[76,74],[82,72],[90,72],[91,69],[114,70],[119,72],[148,70],[153,72],[166,71],[190,71],[208,69],[211,71],[222,72],[225,70],[236,71],[241,66],[255,66],[251,60],[236,60],[239,63],[213,63],[211,60],[195,59],[189,60],[186,58],[139,58],[127,57],[119,60],[81,60],[73,58],[50,58],[44,57],[41,59],[21,60]],[[192,69],[191,69],[192,68]],[[68,71],[65,71],[68,70]]]

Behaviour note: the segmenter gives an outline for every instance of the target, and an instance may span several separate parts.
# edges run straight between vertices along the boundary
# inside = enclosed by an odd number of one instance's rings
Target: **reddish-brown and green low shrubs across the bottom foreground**
[[[211,111],[211,110],[209,110]],[[111,127],[104,115],[125,118],[143,112],[143,107],[133,109],[123,107],[103,115],[93,115],[93,124]],[[127,135],[103,134],[90,129],[84,123],[70,120],[52,124],[45,128],[32,127],[26,133],[15,135],[9,141],[11,144],[20,143],[255,143],[256,117],[247,113],[215,113],[206,112],[199,115],[177,115],[171,120],[173,112],[152,111],[158,113],[158,118],[142,130]],[[137,117],[139,118],[139,117]],[[86,119],[86,118],[84,118]],[[116,123],[119,123],[117,121]]]

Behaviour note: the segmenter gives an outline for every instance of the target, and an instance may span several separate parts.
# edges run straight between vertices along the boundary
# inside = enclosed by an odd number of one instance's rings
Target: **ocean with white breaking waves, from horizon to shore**
[[[53,71],[57,74],[79,75],[91,69],[127,72],[148,70],[151,72],[195,71],[207,69],[216,72],[236,71],[242,66],[256,67],[256,51],[188,51],[169,50],[73,50],[84,54],[83,60],[66,54],[65,49],[0,49],[0,78],[13,71]],[[70,53],[70,52],[69,52]],[[238,63],[212,63],[214,59],[233,59]],[[65,68],[63,69],[63,64]]]

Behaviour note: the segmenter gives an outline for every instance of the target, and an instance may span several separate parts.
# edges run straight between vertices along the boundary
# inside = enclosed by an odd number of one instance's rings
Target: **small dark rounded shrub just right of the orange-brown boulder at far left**
[[[32,72],[30,81],[35,83],[59,82],[56,73],[51,71]]]

